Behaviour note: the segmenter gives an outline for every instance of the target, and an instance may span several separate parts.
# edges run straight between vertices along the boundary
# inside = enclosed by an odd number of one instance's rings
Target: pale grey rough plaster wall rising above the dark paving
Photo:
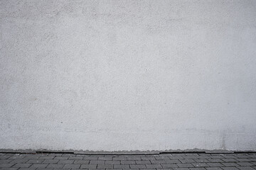
[[[256,1],[0,1],[0,148],[256,149]]]

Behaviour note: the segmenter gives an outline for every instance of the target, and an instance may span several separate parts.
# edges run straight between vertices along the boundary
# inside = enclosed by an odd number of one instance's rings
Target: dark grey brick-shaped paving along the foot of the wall
[[[6,154],[0,153],[0,169],[256,169],[256,154]]]

